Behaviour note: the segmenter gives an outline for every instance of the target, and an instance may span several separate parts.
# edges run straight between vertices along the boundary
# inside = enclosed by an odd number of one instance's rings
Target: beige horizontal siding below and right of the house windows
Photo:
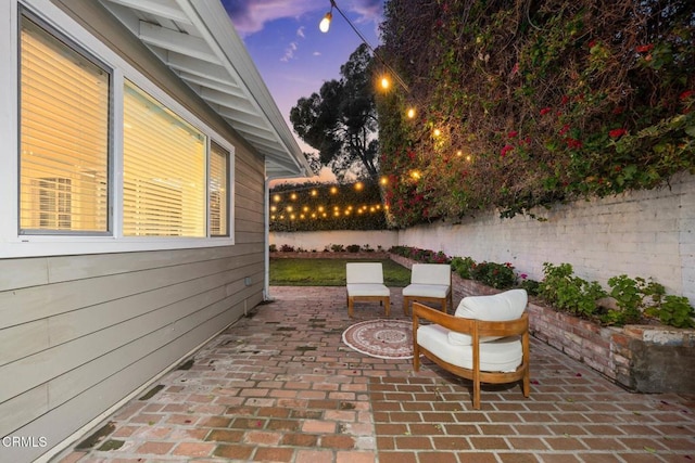
[[[261,303],[262,163],[237,166],[235,246],[0,259],[0,436],[60,443]]]

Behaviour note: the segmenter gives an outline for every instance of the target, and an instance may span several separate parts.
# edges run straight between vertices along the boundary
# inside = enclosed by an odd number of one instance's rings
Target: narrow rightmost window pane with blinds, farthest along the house
[[[229,236],[229,152],[217,143],[210,149],[210,234]]]

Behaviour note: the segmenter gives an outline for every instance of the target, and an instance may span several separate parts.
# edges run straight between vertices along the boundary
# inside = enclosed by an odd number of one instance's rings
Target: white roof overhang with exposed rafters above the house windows
[[[100,0],[251,146],[268,177],[309,166],[218,0]]]

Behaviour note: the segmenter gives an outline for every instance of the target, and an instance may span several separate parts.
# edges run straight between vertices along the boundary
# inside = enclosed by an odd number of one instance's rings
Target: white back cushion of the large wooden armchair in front
[[[491,296],[464,297],[454,312],[454,317],[465,319],[502,322],[517,320],[526,310],[529,296],[526,290],[509,290]],[[481,343],[500,339],[497,336],[483,336]],[[448,340],[456,346],[470,346],[472,337],[468,334],[451,332]]]

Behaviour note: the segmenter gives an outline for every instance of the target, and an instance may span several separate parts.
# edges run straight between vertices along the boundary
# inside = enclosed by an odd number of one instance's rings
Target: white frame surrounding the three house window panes
[[[20,81],[18,81],[18,30],[22,8],[26,8],[51,29],[64,35],[84,52],[98,57],[113,69],[112,72],[112,114],[111,137],[112,156],[110,175],[110,228],[109,235],[84,234],[20,234],[18,217],[18,147],[20,147]],[[125,253],[138,250],[185,249],[197,247],[228,246],[235,244],[235,146],[179,104],[163,89],[156,87],[146,76],[130,66],[109,47],[100,42],[73,18],[53,3],[45,0],[13,0],[0,2],[0,17],[10,17],[10,27],[0,31],[0,55],[9,57],[7,70],[0,73],[0,258],[60,256],[78,254]],[[49,29],[50,30],[50,29]],[[166,105],[181,118],[203,132],[207,138],[207,156],[211,143],[229,152],[229,203],[227,216],[229,234],[211,236],[210,204],[206,207],[207,230],[205,237],[180,236],[124,236],[123,235],[123,87],[125,79],[131,80],[152,98]],[[210,189],[206,184],[205,196]]]

